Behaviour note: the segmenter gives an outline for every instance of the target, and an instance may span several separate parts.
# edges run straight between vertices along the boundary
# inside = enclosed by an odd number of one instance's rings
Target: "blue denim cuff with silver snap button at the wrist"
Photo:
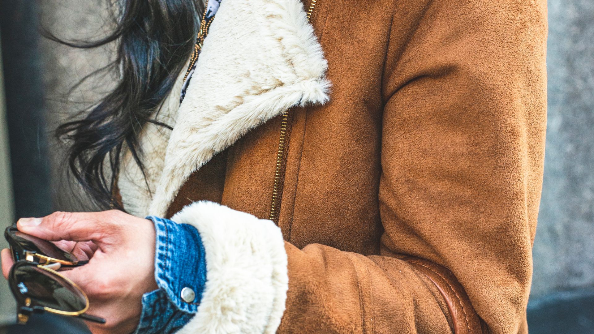
[[[200,233],[192,225],[155,216],[147,219],[153,221],[156,231],[154,278],[157,285],[175,307],[195,314],[206,283],[206,259]],[[184,295],[185,300],[182,298],[184,288],[194,292],[194,300],[188,300],[188,293]]]

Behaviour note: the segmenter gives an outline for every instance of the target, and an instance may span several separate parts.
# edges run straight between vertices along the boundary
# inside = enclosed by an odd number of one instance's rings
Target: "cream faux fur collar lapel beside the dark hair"
[[[300,0],[223,1],[179,111],[178,83],[159,116],[173,131],[142,134],[149,188],[133,162],[124,167],[126,209],[165,215],[189,175],[248,130],[293,106],[325,103],[326,70]]]

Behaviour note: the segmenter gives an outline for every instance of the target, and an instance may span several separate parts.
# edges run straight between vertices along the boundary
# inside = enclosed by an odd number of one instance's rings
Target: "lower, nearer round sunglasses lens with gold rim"
[[[87,298],[72,283],[49,270],[23,263],[11,272],[12,292],[21,305],[30,298],[30,307],[41,306],[64,312],[80,312],[87,307]]]

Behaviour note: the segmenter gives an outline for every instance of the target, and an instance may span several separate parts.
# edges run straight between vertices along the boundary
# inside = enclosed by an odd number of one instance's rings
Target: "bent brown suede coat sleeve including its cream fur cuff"
[[[400,10],[407,2],[416,3]],[[299,249],[270,220],[196,203],[172,220],[198,227],[210,283],[194,327],[180,333],[213,322],[221,332],[527,332],[545,1],[428,3],[415,29],[393,23],[393,34],[410,34],[406,45],[388,45],[381,254]],[[237,242],[221,250],[230,234]]]

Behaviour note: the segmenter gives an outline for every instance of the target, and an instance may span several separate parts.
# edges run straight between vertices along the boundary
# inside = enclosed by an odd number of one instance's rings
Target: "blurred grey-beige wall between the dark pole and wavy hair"
[[[37,0],[40,22],[43,27],[62,39],[93,39],[103,37],[109,30],[110,18],[106,15],[105,0]],[[53,204],[55,210],[89,210],[89,201],[84,193],[66,176],[64,149],[51,136],[52,131],[64,121],[71,119],[80,110],[96,102],[109,92],[114,82],[107,76],[95,76],[78,89],[68,93],[72,86],[85,75],[96,71],[110,61],[108,48],[91,50],[73,49],[43,39],[41,61],[43,84],[48,110],[49,152]],[[91,207],[92,209],[92,207]]]

